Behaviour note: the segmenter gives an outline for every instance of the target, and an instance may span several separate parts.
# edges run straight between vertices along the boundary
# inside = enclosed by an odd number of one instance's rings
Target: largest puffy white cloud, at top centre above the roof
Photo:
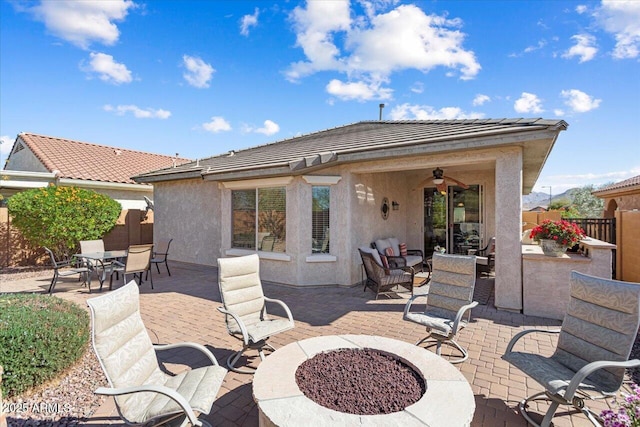
[[[465,35],[459,31],[459,19],[427,15],[414,5],[376,14],[391,3],[395,2],[368,2],[367,15],[354,19],[348,2],[310,1],[306,8],[296,7],[290,17],[296,44],[306,58],[290,65],[287,78],[297,81],[316,72],[337,71],[348,80],[368,83],[359,84],[359,89],[333,82],[328,87],[357,91],[363,86],[380,87],[392,73],[405,69],[426,73],[446,67],[464,80],[477,75],[481,67],[473,51],[463,47]],[[344,43],[339,45],[336,40]]]

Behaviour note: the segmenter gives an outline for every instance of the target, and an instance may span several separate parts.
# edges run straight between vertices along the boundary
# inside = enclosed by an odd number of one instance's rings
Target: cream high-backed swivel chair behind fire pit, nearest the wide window
[[[287,305],[276,299],[267,298],[262,292],[260,282],[260,259],[257,254],[237,257],[218,258],[218,286],[222,307],[229,334],[242,341],[242,350],[232,353],[227,366],[234,372],[251,374],[254,368],[236,367],[240,356],[248,350],[257,350],[264,360],[264,348],[275,349],[267,343],[269,337],[293,329],[294,322]],[[266,303],[278,304],[286,313],[287,319],[270,319]]]

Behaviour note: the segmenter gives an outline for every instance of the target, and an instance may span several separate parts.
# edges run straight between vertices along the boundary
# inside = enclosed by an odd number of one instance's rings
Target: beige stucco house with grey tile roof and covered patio
[[[496,236],[495,303],[520,310],[522,194],[567,126],[363,121],[134,180],[154,186],[154,234],[174,239],[172,259],[215,265],[257,252],[265,280],[348,286],[362,279],[357,248],[378,238],[430,254]]]

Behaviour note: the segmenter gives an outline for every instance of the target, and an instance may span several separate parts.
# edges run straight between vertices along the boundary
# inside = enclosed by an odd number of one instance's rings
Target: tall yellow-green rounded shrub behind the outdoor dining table
[[[60,258],[75,253],[80,240],[101,239],[122,210],[109,196],[56,186],[18,193],[8,207],[12,224],[31,244],[46,246]]]

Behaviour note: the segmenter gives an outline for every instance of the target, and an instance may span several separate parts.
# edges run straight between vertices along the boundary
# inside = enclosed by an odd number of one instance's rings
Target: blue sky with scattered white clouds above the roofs
[[[191,159],[378,119],[569,123],[535,187],[640,174],[640,1],[0,0],[2,156]]]

